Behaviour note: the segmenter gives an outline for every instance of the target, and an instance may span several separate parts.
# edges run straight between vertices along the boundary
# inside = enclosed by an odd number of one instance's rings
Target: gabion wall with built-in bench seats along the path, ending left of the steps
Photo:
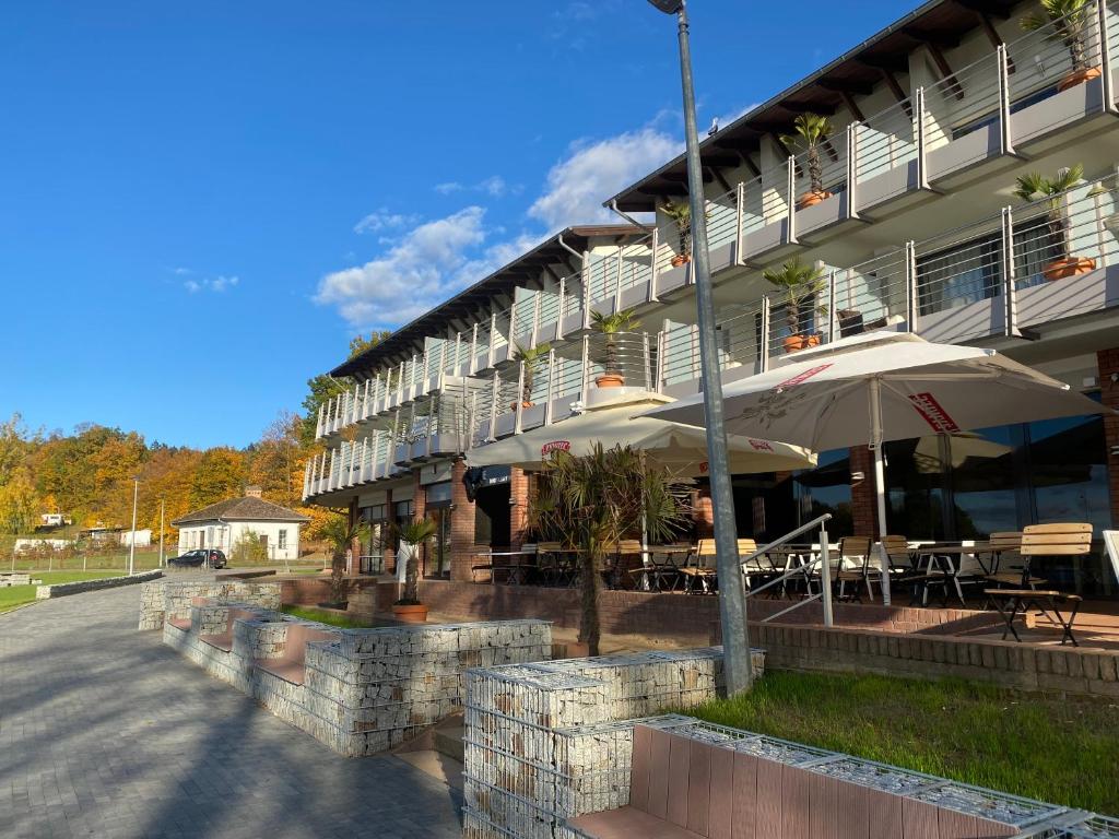
[[[180,609],[185,595],[177,596]],[[189,629],[170,621],[163,624],[164,643],[281,719],[350,756],[399,745],[455,713],[462,706],[468,669],[546,661],[552,651],[552,628],[545,621],[339,630],[253,603],[214,598],[191,603],[200,596],[191,593],[186,598]],[[254,618],[238,618],[231,626],[233,606]],[[302,684],[257,666],[284,656],[288,630],[295,624],[333,637],[307,643]],[[215,640],[231,629],[232,649],[226,651]]]

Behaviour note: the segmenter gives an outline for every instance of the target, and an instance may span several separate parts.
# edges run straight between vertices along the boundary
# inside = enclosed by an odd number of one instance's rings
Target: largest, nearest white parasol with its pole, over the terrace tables
[[[801,350],[796,359],[723,386],[726,430],[779,437],[818,452],[871,446],[882,536],[883,442],[1106,411],[995,350],[930,343],[910,333],[847,338]],[[656,407],[645,416],[699,425],[702,397]],[[888,602],[887,578],[883,593]]]

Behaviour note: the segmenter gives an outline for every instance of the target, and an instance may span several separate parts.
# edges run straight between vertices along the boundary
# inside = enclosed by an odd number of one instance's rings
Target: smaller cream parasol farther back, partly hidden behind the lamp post
[[[580,456],[590,454],[595,443],[602,443],[606,449],[617,444],[632,445],[645,451],[649,461],[679,475],[707,474],[707,432],[704,428],[634,417],[650,404],[666,402],[669,402],[667,397],[646,394],[636,402],[627,399],[590,408],[561,423],[471,449],[467,452],[467,463],[539,469],[553,451]],[[816,465],[815,455],[794,445],[741,435],[731,435],[727,443],[732,474],[782,472]]]

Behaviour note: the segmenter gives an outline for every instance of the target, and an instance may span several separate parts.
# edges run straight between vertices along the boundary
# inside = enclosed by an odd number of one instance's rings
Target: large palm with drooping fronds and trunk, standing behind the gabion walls
[[[667,470],[650,466],[632,446],[603,449],[583,458],[555,452],[544,462],[540,492],[529,524],[579,550],[580,643],[599,654],[599,595],[621,539],[642,530],[653,543],[678,535],[688,513],[688,487]]]

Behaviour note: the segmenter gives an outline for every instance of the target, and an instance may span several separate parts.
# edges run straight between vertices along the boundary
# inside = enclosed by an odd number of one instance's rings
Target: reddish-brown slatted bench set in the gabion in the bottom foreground
[[[568,820],[599,839],[949,839],[1012,824],[669,732],[633,728],[630,803]]]

